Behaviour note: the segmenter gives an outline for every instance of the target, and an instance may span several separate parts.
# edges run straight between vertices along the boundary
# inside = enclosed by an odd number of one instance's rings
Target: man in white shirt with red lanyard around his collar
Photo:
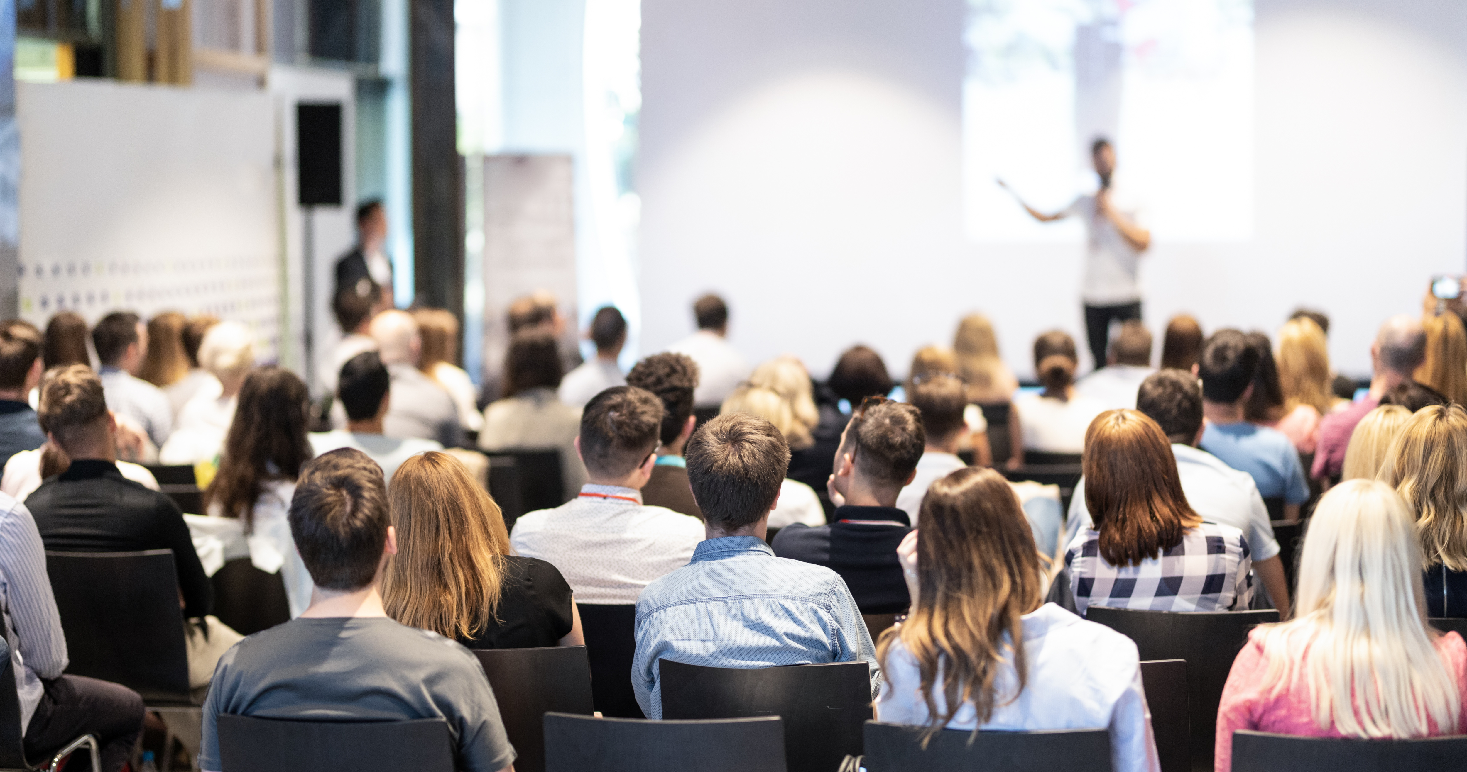
[[[662,416],[662,400],[635,387],[593,397],[575,439],[590,482],[566,504],[515,520],[509,545],[560,568],[581,604],[635,604],[643,587],[688,563],[703,541],[703,523],[641,498]]]

